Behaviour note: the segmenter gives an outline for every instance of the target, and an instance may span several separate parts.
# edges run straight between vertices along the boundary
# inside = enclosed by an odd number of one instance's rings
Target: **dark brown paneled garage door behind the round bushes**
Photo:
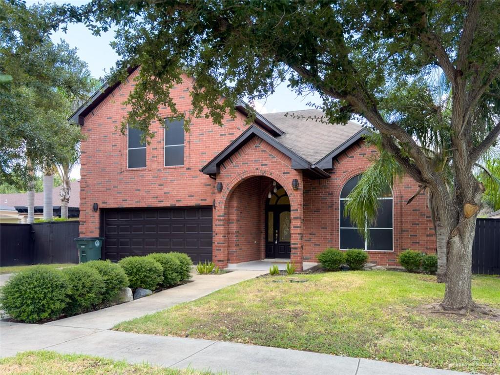
[[[212,207],[105,209],[104,259],[179,251],[196,264],[212,259]]]

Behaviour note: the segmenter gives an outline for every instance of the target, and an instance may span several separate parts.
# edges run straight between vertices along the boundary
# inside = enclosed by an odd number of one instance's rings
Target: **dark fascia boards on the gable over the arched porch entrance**
[[[227,160],[229,156],[231,156],[244,144],[246,144],[246,142],[248,142],[253,136],[258,136],[274,148],[289,156],[291,158],[291,167],[293,169],[305,169],[308,171],[308,175],[312,176],[312,178],[328,178],[330,176],[329,173],[318,167],[311,167],[311,164],[307,160],[293,152],[285,145],[278,142],[271,135],[255,125],[251,125],[250,127],[248,127],[248,129],[243,131],[241,135],[234,139],[227,147],[220,151],[217,156],[215,156],[205,166],[203,166],[200,171],[204,174],[216,174],[219,171],[220,164]]]

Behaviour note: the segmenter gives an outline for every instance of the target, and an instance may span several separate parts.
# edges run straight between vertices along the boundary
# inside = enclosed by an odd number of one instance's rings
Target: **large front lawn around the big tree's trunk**
[[[498,321],[421,309],[442,298],[435,276],[349,271],[293,276],[303,283],[288,278],[248,280],[114,329],[500,373]],[[498,308],[499,291],[499,277],[474,276],[477,302]]]

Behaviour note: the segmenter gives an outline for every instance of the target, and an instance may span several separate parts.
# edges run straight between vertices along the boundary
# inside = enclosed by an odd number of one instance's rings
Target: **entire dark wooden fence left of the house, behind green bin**
[[[77,263],[79,221],[0,224],[0,266]]]

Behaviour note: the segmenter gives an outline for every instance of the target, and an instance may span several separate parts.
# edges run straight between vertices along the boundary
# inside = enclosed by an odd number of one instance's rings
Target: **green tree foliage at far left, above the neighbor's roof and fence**
[[[74,49],[49,39],[63,8],[5,0],[0,8],[0,74],[11,77],[0,89],[0,177],[26,189],[33,169],[53,165],[80,140],[67,117],[90,77]]]

